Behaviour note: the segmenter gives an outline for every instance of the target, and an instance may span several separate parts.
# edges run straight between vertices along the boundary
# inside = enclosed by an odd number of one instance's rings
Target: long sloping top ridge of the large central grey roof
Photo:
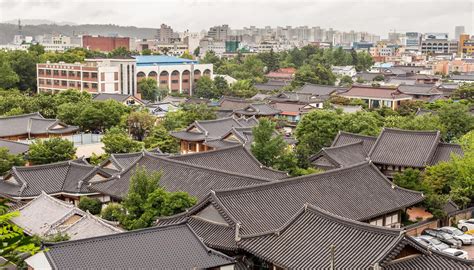
[[[294,183],[299,183],[302,181],[311,181],[313,180],[312,178],[314,176],[321,176],[321,175],[333,175],[339,173],[341,170],[351,170],[359,167],[365,167],[370,164],[369,161],[363,161],[359,163],[355,163],[351,166],[343,167],[343,168],[337,168],[329,171],[325,171],[322,173],[316,173],[316,174],[308,174],[308,175],[303,175],[303,176],[298,176],[298,177],[292,177],[292,178],[286,178],[282,179],[279,181],[271,181],[268,183],[263,183],[263,184],[256,184],[252,186],[243,186],[243,187],[237,187],[237,188],[231,188],[231,189],[221,189],[221,190],[216,190],[216,193],[219,194],[228,194],[232,192],[238,192],[238,191],[251,191],[251,190],[256,190],[256,189],[261,189],[261,188],[266,188],[267,186],[276,186],[276,185],[286,185],[286,184],[294,184]],[[373,167],[371,167],[373,168]],[[378,169],[377,169],[378,170]]]

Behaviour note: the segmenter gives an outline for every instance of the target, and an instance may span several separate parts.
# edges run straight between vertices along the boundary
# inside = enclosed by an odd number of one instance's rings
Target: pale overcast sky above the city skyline
[[[448,32],[464,25],[474,34],[474,0],[0,0],[0,21],[48,19],[140,27],[171,25],[200,31],[218,24],[321,26],[387,35]]]

